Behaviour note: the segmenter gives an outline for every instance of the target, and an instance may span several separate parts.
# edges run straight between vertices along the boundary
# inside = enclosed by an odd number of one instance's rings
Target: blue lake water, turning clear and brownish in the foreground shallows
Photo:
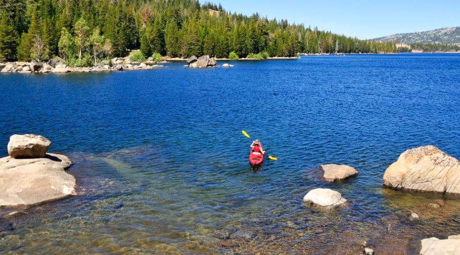
[[[44,135],[74,161],[79,185],[77,196],[0,220],[0,250],[356,253],[366,239],[376,252],[404,253],[420,238],[460,234],[458,197],[381,187],[408,148],[433,144],[460,158],[460,56],[234,64],[0,75],[0,156],[12,134]],[[279,161],[252,171],[241,130]],[[325,184],[314,173],[324,163],[359,174]],[[350,206],[304,206],[318,187]],[[444,207],[429,209],[435,199]]]

